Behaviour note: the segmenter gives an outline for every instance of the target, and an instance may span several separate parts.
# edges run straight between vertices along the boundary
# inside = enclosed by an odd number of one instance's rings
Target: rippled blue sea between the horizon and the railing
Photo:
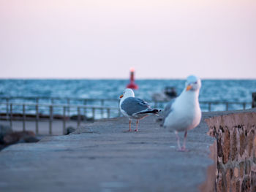
[[[129,80],[0,80],[0,97],[118,99],[128,83]],[[185,80],[136,80],[136,83],[139,89],[135,91],[135,96],[151,101],[152,94],[163,91],[165,86],[176,87],[177,93],[181,93]],[[202,80],[199,99],[251,102],[252,92],[256,92],[256,80]],[[116,103],[108,104],[111,105],[117,107]],[[248,104],[246,108],[249,107]],[[204,106],[203,110],[206,108]],[[225,110],[225,106],[213,110]]]

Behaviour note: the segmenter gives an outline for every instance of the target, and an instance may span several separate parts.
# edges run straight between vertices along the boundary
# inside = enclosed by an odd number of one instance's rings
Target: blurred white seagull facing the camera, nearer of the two
[[[201,110],[198,101],[201,80],[195,75],[187,77],[185,88],[181,95],[171,100],[163,111],[163,126],[175,131],[178,150],[186,150],[187,131],[198,126],[201,120]],[[181,147],[178,132],[184,131],[184,142]]]

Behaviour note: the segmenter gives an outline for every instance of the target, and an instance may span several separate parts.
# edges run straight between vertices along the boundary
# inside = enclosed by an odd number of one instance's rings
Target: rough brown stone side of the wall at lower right
[[[206,119],[217,139],[215,191],[256,191],[256,113]]]

